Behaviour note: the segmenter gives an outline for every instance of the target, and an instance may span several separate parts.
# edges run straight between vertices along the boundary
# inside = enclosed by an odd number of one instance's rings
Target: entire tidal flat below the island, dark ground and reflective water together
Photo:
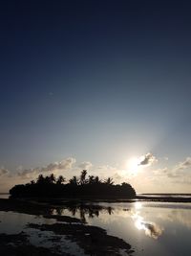
[[[188,256],[190,216],[189,202],[0,199],[0,254]]]

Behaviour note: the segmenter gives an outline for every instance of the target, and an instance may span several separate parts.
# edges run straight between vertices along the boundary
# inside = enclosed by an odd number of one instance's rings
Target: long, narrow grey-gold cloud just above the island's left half
[[[72,169],[75,163],[75,159],[73,157],[68,157],[61,162],[50,163],[44,167],[37,167],[33,169],[20,170],[17,175],[23,178],[32,177],[32,175],[39,175],[42,173],[51,173],[56,170],[67,171]]]

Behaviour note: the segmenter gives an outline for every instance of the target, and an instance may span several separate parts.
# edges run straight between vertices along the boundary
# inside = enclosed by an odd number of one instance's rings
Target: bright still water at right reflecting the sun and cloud
[[[131,244],[135,248],[134,255],[191,255],[190,203],[136,202],[109,205],[114,208],[111,215],[101,211],[98,217],[89,218],[86,214],[86,221],[103,227],[109,234]],[[80,216],[80,213],[75,215]]]

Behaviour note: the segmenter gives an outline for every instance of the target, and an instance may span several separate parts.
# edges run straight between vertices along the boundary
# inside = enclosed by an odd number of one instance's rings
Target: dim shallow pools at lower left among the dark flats
[[[35,224],[53,224],[53,219],[45,219],[41,216],[32,216],[14,212],[0,211],[0,234],[19,234],[24,231],[29,235],[30,243],[35,246],[41,246],[52,249],[59,249],[60,252],[67,252],[72,255],[84,256],[83,250],[75,243],[65,240],[64,236],[61,240],[51,241],[50,238],[59,238],[51,231],[43,231],[28,228],[29,223]]]

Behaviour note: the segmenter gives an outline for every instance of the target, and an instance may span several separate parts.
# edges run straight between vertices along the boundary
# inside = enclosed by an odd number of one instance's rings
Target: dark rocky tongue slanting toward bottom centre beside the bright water
[[[41,231],[53,231],[56,235],[65,235],[65,238],[75,242],[88,255],[109,256],[120,255],[120,250],[124,250],[128,255],[133,253],[131,245],[114,236],[107,235],[106,230],[84,224],[33,224],[29,227]]]

